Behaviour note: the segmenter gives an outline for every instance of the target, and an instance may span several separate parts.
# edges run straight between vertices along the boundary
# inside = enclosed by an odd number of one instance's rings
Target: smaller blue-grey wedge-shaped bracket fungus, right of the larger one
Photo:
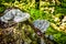
[[[45,32],[50,26],[50,22],[46,20],[35,20],[33,24],[35,28],[40,29],[42,33]]]

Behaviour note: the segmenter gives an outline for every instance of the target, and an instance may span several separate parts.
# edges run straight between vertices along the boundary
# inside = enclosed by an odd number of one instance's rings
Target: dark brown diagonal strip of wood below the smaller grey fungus
[[[37,21],[37,20],[36,20]],[[40,20],[41,21],[41,20]],[[44,20],[43,20],[44,21]],[[43,34],[44,32],[42,32],[42,30],[35,28],[34,22],[32,23],[31,21],[28,21],[28,24],[31,25],[31,28],[34,30],[34,32],[44,40],[45,44],[54,44],[50,38],[47,38],[45,36],[45,34]],[[37,24],[37,23],[35,23]],[[41,25],[42,26],[42,25]],[[48,25],[50,26],[50,25]]]

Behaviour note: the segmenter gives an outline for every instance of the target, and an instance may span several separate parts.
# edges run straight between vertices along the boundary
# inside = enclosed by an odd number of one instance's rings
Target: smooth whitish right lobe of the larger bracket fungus
[[[22,15],[18,15],[13,19],[14,22],[23,22],[30,18],[29,13],[22,13]]]

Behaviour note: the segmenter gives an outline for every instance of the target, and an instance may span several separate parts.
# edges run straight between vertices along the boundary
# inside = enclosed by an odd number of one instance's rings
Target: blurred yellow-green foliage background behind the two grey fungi
[[[57,44],[66,44],[66,29],[59,29],[63,15],[66,15],[66,0],[0,0],[0,14],[9,7],[16,7],[29,12],[32,21],[37,19],[50,21],[51,26],[46,33],[52,34]],[[30,30],[29,33],[32,31]],[[35,38],[32,44],[38,44],[36,40],[38,37],[32,37],[32,34],[34,32],[31,33],[31,36],[28,36],[30,38],[28,40],[31,42]]]

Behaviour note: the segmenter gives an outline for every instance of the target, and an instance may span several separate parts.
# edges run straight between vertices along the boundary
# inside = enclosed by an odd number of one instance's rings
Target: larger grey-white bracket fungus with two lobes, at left
[[[23,22],[30,19],[29,13],[22,12],[19,9],[7,9],[3,14],[4,15],[0,18],[0,26],[6,28],[7,28],[6,24],[12,25],[13,23]]]

